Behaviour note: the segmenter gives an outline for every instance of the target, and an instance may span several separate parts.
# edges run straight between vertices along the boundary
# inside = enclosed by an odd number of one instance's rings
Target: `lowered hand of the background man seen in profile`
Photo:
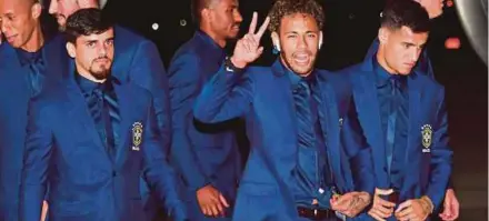
[[[224,197],[210,184],[197,191],[197,200],[202,213],[209,217],[223,217],[226,215],[224,209],[229,208]]]

